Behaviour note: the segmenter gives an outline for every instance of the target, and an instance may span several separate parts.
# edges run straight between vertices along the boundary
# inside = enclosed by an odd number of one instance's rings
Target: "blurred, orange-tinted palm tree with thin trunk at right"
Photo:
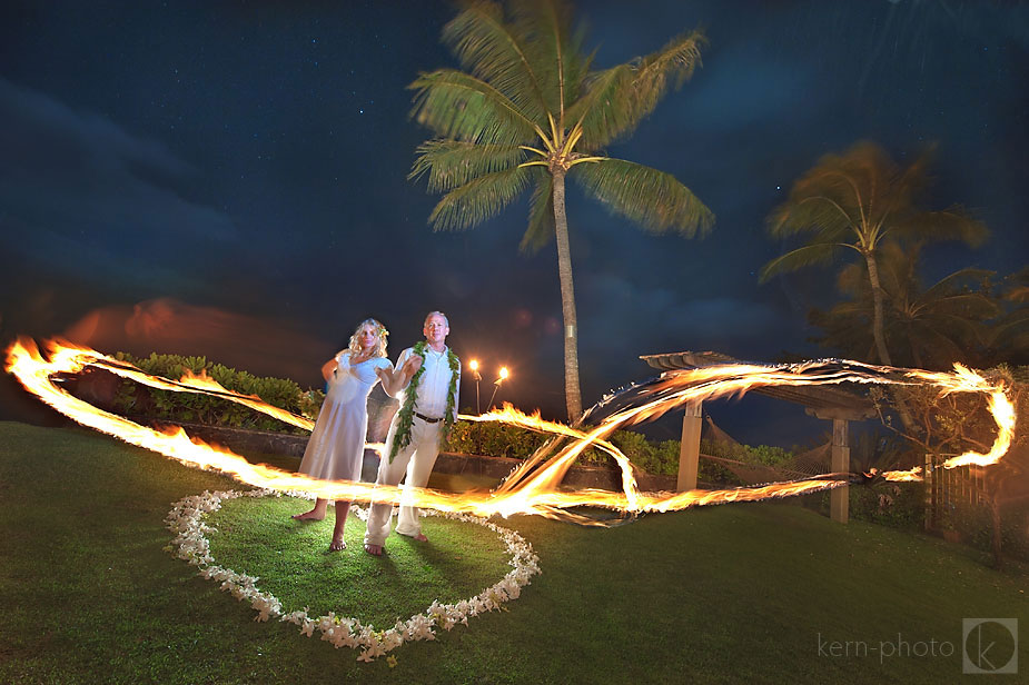
[[[880,364],[892,365],[883,335],[880,247],[898,240],[961,239],[978,245],[987,228],[959,207],[928,211],[918,205],[927,185],[928,152],[909,167],[894,163],[881,147],[859,142],[843,155],[825,155],[793,183],[790,198],[769,216],[776,238],[810,236],[808,244],[764,265],[762,282],[776,274],[832,261],[852,249],[864,262],[872,295],[872,338]]]

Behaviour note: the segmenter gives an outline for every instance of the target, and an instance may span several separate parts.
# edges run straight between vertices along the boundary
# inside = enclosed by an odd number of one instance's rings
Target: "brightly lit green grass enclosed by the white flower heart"
[[[388,540],[387,555],[375,558],[362,552],[365,525],[352,515],[347,549],[329,553],[332,507],[321,522],[289,518],[309,508],[309,502],[291,497],[224,503],[207,518],[217,528],[208,535],[215,563],[260,577],[258,586],[278,597],[284,613],[307,608],[317,617],[334,612],[377,629],[420,614],[436,599],[473,597],[511,570],[494,532],[437,516],[426,517],[422,526],[432,545],[396,536]]]

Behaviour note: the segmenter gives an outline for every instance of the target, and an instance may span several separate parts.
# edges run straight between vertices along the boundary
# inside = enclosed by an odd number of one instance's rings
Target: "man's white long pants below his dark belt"
[[[400,535],[416,537],[422,533],[422,524],[418,520],[420,510],[410,505],[413,497],[409,488],[425,487],[428,483],[429,474],[433,473],[433,466],[439,455],[439,431],[443,429],[443,421],[428,424],[417,416],[414,417],[410,425],[410,444],[398,449],[396,456],[393,457],[393,461],[389,461],[389,447],[393,445],[393,436],[396,434],[396,429],[397,424],[394,421],[389,426],[388,435],[386,435],[386,449],[382,461],[379,461],[378,477],[375,483],[377,485],[398,485],[400,478],[404,478],[406,474],[396,529]],[[368,512],[368,527],[365,530],[366,545],[382,546],[386,542],[386,537],[389,536],[392,517],[392,504],[372,505]]]

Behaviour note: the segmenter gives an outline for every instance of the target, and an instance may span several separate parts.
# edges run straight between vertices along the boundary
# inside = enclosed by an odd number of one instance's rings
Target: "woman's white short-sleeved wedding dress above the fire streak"
[[[368,433],[368,395],[378,383],[376,367],[393,368],[386,357],[350,366],[350,353],[336,356],[339,367],[304,450],[299,473],[323,480],[360,480]]]

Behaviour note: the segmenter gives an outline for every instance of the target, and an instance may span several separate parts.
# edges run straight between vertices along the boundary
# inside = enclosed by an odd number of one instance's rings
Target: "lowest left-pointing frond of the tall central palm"
[[[531,167],[486,173],[447,192],[429,215],[433,230],[465,230],[496,216],[525,190]]]

